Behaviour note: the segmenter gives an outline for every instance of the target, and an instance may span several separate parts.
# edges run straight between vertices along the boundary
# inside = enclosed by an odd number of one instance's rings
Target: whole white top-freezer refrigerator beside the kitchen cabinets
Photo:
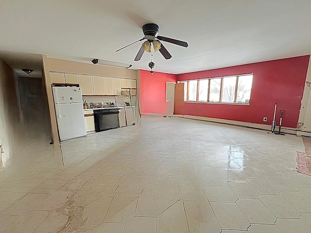
[[[52,90],[60,140],[86,135],[81,87],[53,86]]]

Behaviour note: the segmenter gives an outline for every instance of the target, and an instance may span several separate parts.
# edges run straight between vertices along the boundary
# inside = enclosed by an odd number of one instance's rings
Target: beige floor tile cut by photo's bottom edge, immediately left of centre
[[[155,233],[156,217],[134,217],[125,224],[124,233]]]

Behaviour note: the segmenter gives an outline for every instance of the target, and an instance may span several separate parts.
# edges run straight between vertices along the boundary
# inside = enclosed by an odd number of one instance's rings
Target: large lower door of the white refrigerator
[[[61,141],[86,135],[83,103],[55,104],[55,112]]]

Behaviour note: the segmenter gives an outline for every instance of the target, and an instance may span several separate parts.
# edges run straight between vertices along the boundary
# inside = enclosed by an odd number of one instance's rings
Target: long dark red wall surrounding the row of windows
[[[296,128],[310,56],[177,75],[178,81],[254,73],[250,105],[175,102],[174,114],[207,116],[271,125],[276,99],[276,125]],[[263,122],[263,117],[268,117]]]

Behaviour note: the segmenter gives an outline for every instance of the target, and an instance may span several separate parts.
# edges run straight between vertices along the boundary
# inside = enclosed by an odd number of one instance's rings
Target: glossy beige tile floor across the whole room
[[[1,233],[311,233],[301,137],[143,117],[63,158],[44,140],[0,171]]]

